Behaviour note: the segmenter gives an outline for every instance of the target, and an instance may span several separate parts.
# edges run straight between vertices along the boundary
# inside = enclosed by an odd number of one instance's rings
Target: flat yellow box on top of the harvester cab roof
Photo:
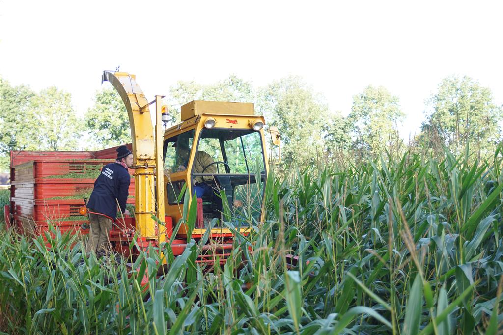
[[[181,108],[182,121],[200,114],[255,115],[253,103],[193,100]]]

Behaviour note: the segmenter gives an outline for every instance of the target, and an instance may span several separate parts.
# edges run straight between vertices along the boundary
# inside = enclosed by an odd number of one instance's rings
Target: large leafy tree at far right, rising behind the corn
[[[427,103],[427,121],[422,126],[427,138],[436,135],[456,151],[467,144],[488,149],[501,141],[498,123],[503,110],[494,104],[491,91],[476,80],[468,76],[444,78]]]

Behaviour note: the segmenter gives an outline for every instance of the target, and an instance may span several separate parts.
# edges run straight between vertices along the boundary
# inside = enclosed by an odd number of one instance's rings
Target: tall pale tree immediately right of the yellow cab
[[[259,111],[281,131],[285,162],[312,162],[325,152],[324,137],[332,120],[327,105],[299,77],[272,82],[261,90]]]

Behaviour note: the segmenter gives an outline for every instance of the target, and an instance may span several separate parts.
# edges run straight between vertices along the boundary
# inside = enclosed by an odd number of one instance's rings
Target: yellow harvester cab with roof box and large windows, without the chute
[[[268,171],[264,117],[255,115],[251,103],[215,101],[192,101],[181,115],[182,122],[164,133],[166,213],[174,222],[181,219],[180,193],[186,189],[198,202],[193,236],[210,224],[214,233],[230,233],[223,222],[248,231],[262,219]]]

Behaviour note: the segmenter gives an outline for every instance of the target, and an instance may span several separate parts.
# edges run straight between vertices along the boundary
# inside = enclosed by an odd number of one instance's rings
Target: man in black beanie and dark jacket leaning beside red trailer
[[[128,168],[132,165],[132,152],[126,146],[120,146],[117,148],[117,160],[103,166],[96,179],[87,205],[91,223],[87,253],[98,253],[110,248],[109,233],[117,215],[117,204],[121,213],[130,214],[126,209],[126,201],[131,183]]]

